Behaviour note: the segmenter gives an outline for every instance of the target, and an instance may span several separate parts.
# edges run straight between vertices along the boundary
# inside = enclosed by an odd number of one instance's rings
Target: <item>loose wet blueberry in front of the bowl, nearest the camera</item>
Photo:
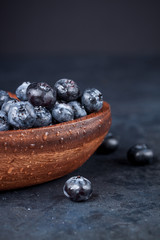
[[[92,195],[91,182],[82,176],[71,177],[64,184],[63,192],[72,201],[86,201]]]

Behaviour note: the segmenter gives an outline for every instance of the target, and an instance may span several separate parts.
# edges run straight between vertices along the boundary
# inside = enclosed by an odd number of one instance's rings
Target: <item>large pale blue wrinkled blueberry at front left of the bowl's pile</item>
[[[32,128],[36,121],[34,107],[28,101],[15,103],[8,112],[8,122],[14,129]]]

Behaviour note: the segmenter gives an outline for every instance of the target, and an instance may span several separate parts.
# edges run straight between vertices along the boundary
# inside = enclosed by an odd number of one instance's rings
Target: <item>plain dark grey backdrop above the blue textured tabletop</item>
[[[1,54],[158,54],[160,1],[0,1]]]

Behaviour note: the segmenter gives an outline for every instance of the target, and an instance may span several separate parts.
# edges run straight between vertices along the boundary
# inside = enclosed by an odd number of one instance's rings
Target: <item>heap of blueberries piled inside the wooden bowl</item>
[[[45,82],[24,82],[16,89],[16,96],[19,100],[0,90],[0,131],[67,122],[103,106],[99,90],[91,88],[81,93],[69,79],[60,79],[53,87]]]

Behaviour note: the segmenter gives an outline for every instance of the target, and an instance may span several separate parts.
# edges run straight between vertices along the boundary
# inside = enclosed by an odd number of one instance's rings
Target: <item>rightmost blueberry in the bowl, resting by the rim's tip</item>
[[[86,89],[82,94],[81,102],[88,113],[97,112],[103,106],[103,95],[96,88]]]

